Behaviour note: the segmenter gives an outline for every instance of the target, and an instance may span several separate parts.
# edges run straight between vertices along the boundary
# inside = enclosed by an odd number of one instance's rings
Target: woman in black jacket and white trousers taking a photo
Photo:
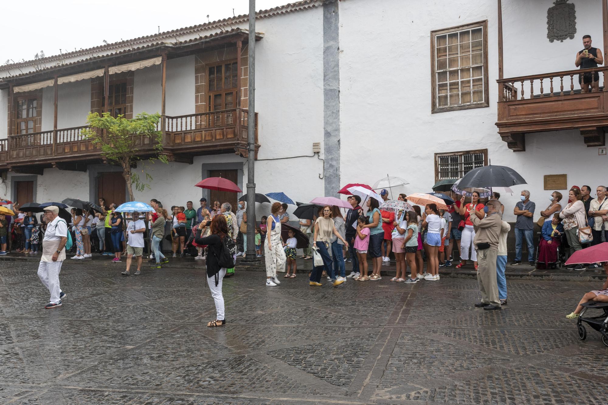
[[[224,215],[215,215],[210,222],[211,231],[209,236],[196,238],[196,243],[207,245],[207,284],[209,284],[209,290],[211,290],[211,296],[215,302],[217,313],[216,319],[207,323],[207,326],[215,327],[226,324],[226,319],[224,318],[224,296],[222,295],[222,279],[226,275],[226,267],[219,267],[219,255],[223,247],[223,240],[228,235],[228,226]],[[208,224],[209,221],[202,221],[199,224],[199,229],[203,229]]]

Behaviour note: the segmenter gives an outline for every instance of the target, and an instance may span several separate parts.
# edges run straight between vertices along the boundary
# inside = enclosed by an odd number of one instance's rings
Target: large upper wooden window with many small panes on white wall
[[[487,21],[431,32],[432,112],[487,107]]]

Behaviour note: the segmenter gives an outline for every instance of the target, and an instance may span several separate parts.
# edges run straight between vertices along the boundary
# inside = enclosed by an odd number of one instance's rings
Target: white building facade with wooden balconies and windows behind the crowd
[[[574,18],[568,14],[572,5]],[[583,35],[592,36],[593,47],[604,49],[605,0],[570,0],[565,11],[553,12],[551,7],[557,5],[550,0],[503,0],[502,5],[500,1],[471,0],[306,0],[259,12],[257,192],[282,191],[294,201],[308,202],[317,196],[335,195],[348,182],[373,184],[387,175],[409,181],[405,187],[408,193],[429,192],[438,179],[461,176],[473,164],[491,162],[513,167],[528,182],[514,187],[513,196],[501,198],[507,207],[505,218],[511,221],[511,207],[519,201],[521,189],[530,190],[540,211],[554,190],[567,195],[573,185],[587,184],[592,190],[606,185],[608,180],[599,170],[608,162],[602,121],[608,126],[608,112],[604,110],[602,116],[599,111],[608,109],[603,93],[581,95],[578,75],[549,74],[577,69],[575,55],[583,48]],[[559,32],[573,38],[550,42],[548,12],[565,16]],[[570,33],[574,27],[575,32]],[[116,180],[108,173],[116,176],[120,170],[105,164],[94,151],[81,149],[80,139],[60,138],[67,136],[61,135],[67,133],[62,129],[84,126],[87,114],[96,106],[103,110],[95,102],[105,97],[105,75],[57,84],[56,114],[54,83],[29,92],[16,92],[19,86],[165,55],[166,62],[108,75],[109,87],[116,86],[111,94],[125,92],[117,99],[120,112],[127,118],[140,112],[162,113],[165,66],[165,116],[190,116],[196,121],[200,114],[207,114],[206,119],[215,119],[214,112],[220,116],[224,110],[238,108],[235,96],[240,97],[241,109],[247,107],[246,29],[246,16],[238,16],[170,35],[161,33],[60,58],[0,67],[0,122],[7,123],[0,125],[0,140],[7,139],[0,141],[4,179],[0,195],[21,203],[28,202],[20,201],[27,198],[38,202],[68,197],[95,201],[111,189],[106,183]],[[501,31],[503,44],[499,45]],[[241,42],[239,75],[233,74],[232,65],[239,59],[236,41]],[[137,52],[127,57],[130,49]],[[218,92],[212,84],[210,69],[218,67],[223,69],[222,84],[230,82],[224,89],[234,90],[232,93]],[[503,98],[505,92],[497,84],[500,69],[503,78],[528,77],[523,100],[519,81],[513,85],[517,95],[510,93],[510,98]],[[598,73],[603,86],[604,71],[598,69]],[[546,75],[542,92],[540,78],[533,75]],[[239,89],[235,89],[236,76]],[[559,94],[562,81],[565,95]],[[96,85],[101,90],[95,90]],[[21,97],[23,93],[30,98]],[[532,101],[526,102],[530,94]],[[544,102],[545,98],[551,102]],[[27,104],[27,99],[36,100],[36,106]],[[498,133],[504,128],[497,127],[497,121],[505,121],[499,117],[500,108],[508,112],[506,121],[511,121],[503,127],[513,136]],[[586,115],[589,110],[592,117]],[[35,116],[27,116],[34,111]],[[517,118],[521,111],[522,118]],[[579,112],[578,121],[572,118],[573,111]],[[540,122],[539,117],[545,115],[550,118]],[[196,206],[201,196],[216,198],[194,187],[196,182],[222,172],[234,176],[245,190],[243,142],[227,144],[227,138],[207,142],[209,132],[193,130],[196,124],[192,119],[188,124],[188,118],[167,118],[166,125],[184,122],[185,127],[179,131],[167,127],[167,132],[174,134],[168,136],[176,137],[171,138],[175,149],[170,150],[168,165],[142,161],[134,169],[145,166],[153,176],[150,189],[136,192],[137,200],[157,198],[165,206],[185,206],[192,200]],[[225,115],[222,119],[221,124],[226,124]],[[556,126],[555,122],[564,124]],[[206,121],[204,126],[226,135],[238,132],[238,127],[231,127],[233,123],[214,127]],[[202,138],[197,138],[199,135]],[[49,136],[54,148],[49,146]],[[188,136],[190,141],[186,141]],[[313,153],[314,142],[320,142],[319,154]],[[42,157],[40,153],[27,155],[28,148],[41,150],[44,145]],[[64,151],[61,156],[57,153],[60,149]],[[451,166],[447,162],[452,162]],[[545,179],[545,175],[565,175],[565,179]],[[565,186],[559,189],[545,187],[546,182],[548,187],[557,187],[564,181]],[[119,198],[120,190],[111,193]],[[236,201],[238,196],[230,198]],[[217,196],[222,197],[227,198]],[[258,217],[267,213],[268,204],[258,207]]]

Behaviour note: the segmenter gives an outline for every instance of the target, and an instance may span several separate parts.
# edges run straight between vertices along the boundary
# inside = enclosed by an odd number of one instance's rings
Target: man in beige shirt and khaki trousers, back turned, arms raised
[[[482,212],[472,213],[469,210],[471,222],[476,230],[473,244],[477,251],[477,282],[482,293],[482,301],[475,304],[475,307],[490,311],[500,309],[496,281],[496,258],[502,229],[500,202],[497,199],[491,199],[483,207],[483,211],[486,213],[485,218],[483,218]]]

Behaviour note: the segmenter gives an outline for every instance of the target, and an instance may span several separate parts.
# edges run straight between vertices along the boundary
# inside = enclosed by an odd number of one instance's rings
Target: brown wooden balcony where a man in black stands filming
[[[588,147],[604,146],[608,126],[608,67],[576,69],[544,75],[499,79],[498,121],[503,141],[516,152],[525,150],[525,134],[575,129]],[[578,75],[599,75],[599,91],[581,92]],[[575,89],[576,87],[576,89]]]

